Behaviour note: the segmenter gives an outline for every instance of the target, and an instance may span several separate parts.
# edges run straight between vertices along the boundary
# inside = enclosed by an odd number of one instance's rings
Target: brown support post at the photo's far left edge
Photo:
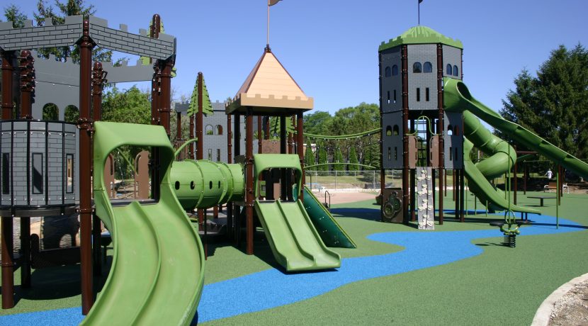
[[[2,51],[2,120],[12,118],[12,54]],[[14,262],[12,252],[12,216],[2,217],[2,309],[14,307]],[[10,239],[6,241],[6,239]]]

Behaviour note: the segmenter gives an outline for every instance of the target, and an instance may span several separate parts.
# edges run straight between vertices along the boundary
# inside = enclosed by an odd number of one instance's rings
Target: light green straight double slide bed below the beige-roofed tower
[[[273,252],[286,271],[334,269],[341,257],[324,245],[300,201],[255,201],[255,211]]]

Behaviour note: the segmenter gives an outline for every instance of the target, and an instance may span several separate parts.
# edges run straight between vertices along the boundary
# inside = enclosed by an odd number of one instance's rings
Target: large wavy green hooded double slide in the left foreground
[[[94,124],[96,214],[113,238],[113,263],[84,325],[190,325],[203,288],[204,252],[169,183],[174,150],[164,128]],[[157,203],[113,206],[104,185],[108,154],[122,145],[158,147],[161,196]]]

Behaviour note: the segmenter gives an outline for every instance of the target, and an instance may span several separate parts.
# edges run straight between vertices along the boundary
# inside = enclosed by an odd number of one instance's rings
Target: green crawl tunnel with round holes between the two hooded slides
[[[186,210],[243,200],[241,164],[187,159],[174,162],[170,179],[181,206]]]

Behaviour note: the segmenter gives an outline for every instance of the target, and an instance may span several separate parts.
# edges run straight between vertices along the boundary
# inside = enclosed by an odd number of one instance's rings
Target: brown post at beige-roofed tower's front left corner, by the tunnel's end
[[[245,213],[247,217],[247,254],[253,254],[253,112],[245,116]]]

